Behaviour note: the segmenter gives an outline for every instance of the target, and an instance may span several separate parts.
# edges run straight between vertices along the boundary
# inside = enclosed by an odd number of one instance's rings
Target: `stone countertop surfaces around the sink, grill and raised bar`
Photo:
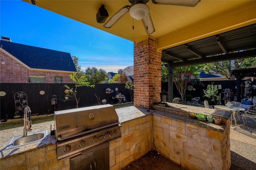
[[[185,108],[182,108],[185,107]],[[216,125],[214,123],[208,123],[208,122],[200,122],[196,119],[190,119],[187,115],[187,111],[190,110],[193,112],[193,110],[198,111],[198,107],[193,106],[182,106],[182,105],[172,105],[172,107],[162,107],[162,106],[156,106],[156,109],[145,109],[141,107],[122,107],[119,109],[116,109],[116,113],[119,117],[120,123],[125,123],[127,121],[131,121],[134,119],[138,119],[140,117],[144,117],[146,115],[158,115],[160,117],[166,117],[168,119],[174,119],[177,121],[181,121],[184,123],[188,123],[191,125],[197,125],[200,127],[208,128],[215,131],[223,132],[225,130],[225,125]],[[206,115],[210,114],[211,111],[209,111],[206,108],[202,108],[203,113]],[[214,109],[212,109],[214,111]],[[222,115],[214,115],[214,117],[221,117],[222,119],[229,119],[231,113],[229,111],[221,111]],[[1,130],[0,131],[0,160],[4,160],[6,158],[12,157],[12,156],[18,156],[21,153],[30,152],[31,150],[37,150],[41,147],[48,147],[48,146],[56,146],[56,140],[54,135],[50,135],[50,126],[54,125],[53,121],[45,122],[45,123],[39,123],[34,124],[32,121],[32,132],[28,132],[28,134],[38,132],[40,130],[47,130],[48,132],[48,138],[45,140],[41,140],[38,142],[33,142],[31,144],[26,144],[23,146],[19,146],[16,148],[11,148],[8,150],[4,150],[4,148],[7,146],[9,140],[13,136],[20,136],[23,134],[23,127],[17,127],[7,130]]]

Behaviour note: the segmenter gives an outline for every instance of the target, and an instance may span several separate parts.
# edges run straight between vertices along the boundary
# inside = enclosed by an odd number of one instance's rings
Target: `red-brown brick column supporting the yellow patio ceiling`
[[[134,43],[134,106],[151,108],[152,100],[160,101],[161,57],[156,40]]]

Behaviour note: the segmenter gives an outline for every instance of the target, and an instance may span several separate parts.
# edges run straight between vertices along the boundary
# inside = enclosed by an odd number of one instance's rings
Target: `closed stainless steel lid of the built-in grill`
[[[119,124],[112,105],[98,105],[54,112],[56,140]]]

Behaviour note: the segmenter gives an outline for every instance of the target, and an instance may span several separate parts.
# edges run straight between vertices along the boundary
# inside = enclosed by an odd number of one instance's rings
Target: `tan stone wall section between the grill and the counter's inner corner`
[[[153,148],[152,115],[121,124],[122,138],[110,142],[110,170],[120,170]]]

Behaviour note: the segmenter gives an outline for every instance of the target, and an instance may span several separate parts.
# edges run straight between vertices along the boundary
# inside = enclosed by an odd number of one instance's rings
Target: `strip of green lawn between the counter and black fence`
[[[133,106],[132,103],[127,103],[125,105],[114,105],[114,108],[121,108],[121,107],[128,107],[128,106]],[[32,119],[32,124],[37,124],[37,123],[44,123],[48,121],[53,121],[54,116],[48,116],[48,117],[40,117],[40,118],[34,118]],[[5,122],[0,124],[0,130],[6,130],[10,128],[16,128],[16,127],[23,127],[24,126],[24,121],[15,121],[15,122]]]

